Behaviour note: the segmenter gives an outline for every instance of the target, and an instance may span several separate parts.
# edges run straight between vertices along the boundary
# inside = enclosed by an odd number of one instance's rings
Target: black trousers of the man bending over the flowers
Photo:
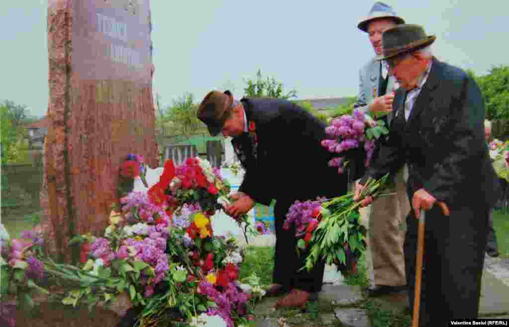
[[[274,207],[274,223],[276,228],[276,247],[274,255],[274,273],[272,282],[281,284],[287,290],[297,288],[308,292],[318,292],[322,289],[325,261],[315,264],[308,272],[305,268],[305,255],[299,257],[296,252],[297,239],[295,227],[283,229],[288,209],[294,201],[276,200]],[[299,271],[300,270],[300,271]]]

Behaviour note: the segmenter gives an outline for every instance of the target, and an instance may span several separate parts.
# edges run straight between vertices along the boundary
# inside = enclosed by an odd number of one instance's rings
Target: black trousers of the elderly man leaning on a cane
[[[489,209],[478,203],[449,207],[445,217],[435,205],[426,213],[425,269],[422,272],[420,326],[447,326],[450,319],[477,318]],[[418,220],[407,216],[405,269],[410,308],[415,294]]]

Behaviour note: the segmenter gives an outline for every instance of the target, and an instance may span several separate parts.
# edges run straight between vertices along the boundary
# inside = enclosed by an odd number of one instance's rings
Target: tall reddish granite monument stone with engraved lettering
[[[106,226],[125,156],[158,165],[150,35],[149,0],[48,2],[42,228],[65,258],[70,236]]]

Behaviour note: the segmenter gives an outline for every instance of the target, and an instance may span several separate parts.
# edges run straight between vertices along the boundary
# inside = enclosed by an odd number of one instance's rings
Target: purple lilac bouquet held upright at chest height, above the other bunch
[[[374,121],[369,115],[360,110],[354,110],[353,114],[344,114],[334,118],[330,125],[325,128],[325,133],[331,139],[322,140],[322,146],[329,152],[342,154],[341,157],[335,157],[329,161],[330,167],[338,167],[337,172],[342,174],[350,160],[347,158],[354,155],[355,149],[364,150],[364,166],[370,165],[371,158],[375,152],[375,141],[381,135],[388,134],[382,120]],[[344,155],[344,156],[343,156]]]

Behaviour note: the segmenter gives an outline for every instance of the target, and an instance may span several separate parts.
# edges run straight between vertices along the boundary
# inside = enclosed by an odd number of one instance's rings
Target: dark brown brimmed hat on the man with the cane
[[[427,36],[424,28],[415,24],[402,24],[387,29],[382,34],[383,53],[376,60],[387,59],[403,53],[416,51],[435,42],[436,36]]]

